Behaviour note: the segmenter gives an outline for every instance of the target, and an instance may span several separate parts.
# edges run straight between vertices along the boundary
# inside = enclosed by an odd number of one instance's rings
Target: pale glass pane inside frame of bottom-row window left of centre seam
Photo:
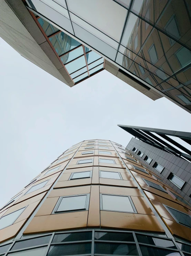
[[[86,197],[87,195],[63,197],[56,212],[86,209]]]

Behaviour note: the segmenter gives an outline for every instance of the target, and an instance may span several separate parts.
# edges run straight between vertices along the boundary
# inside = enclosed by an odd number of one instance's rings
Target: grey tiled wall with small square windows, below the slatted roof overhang
[[[138,149],[136,153],[132,151],[133,148]],[[171,153],[165,152],[161,149],[155,148],[135,138],[131,139],[126,149],[130,150],[132,155],[142,161],[145,166],[147,166],[159,177],[161,177],[164,182],[166,182],[175,191],[177,191],[177,193],[184,197],[187,202],[191,203],[191,162],[174,156]],[[139,150],[144,153],[142,158],[137,155]],[[153,159],[150,164],[144,161],[145,156]],[[164,167],[164,170],[161,174],[152,167],[155,162]],[[170,173],[175,174],[186,182],[182,190],[180,190],[177,186],[170,182],[170,180],[167,179]]]

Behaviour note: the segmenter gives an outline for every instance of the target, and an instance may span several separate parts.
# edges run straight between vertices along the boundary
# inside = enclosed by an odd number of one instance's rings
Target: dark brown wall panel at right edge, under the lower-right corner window
[[[178,224],[177,222],[170,221],[168,219],[162,218],[165,224],[169,227],[172,234],[182,237],[191,241],[191,229],[183,225]]]

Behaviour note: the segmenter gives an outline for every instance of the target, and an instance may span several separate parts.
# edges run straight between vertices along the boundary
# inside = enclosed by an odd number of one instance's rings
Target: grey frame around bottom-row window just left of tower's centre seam
[[[65,197],[74,197],[74,196],[83,196],[83,195],[86,195],[86,208],[84,209],[75,209],[75,210],[68,210],[68,211],[59,211],[57,212],[57,209],[59,208],[59,205],[62,201],[62,198],[65,198]],[[67,213],[67,212],[82,212],[82,211],[88,211],[89,209],[89,202],[90,202],[90,193],[87,193],[87,194],[79,194],[79,195],[69,195],[69,196],[60,196],[59,197],[59,200],[57,201],[56,205],[54,206],[54,209],[52,211],[51,214],[62,214],[62,213]]]

